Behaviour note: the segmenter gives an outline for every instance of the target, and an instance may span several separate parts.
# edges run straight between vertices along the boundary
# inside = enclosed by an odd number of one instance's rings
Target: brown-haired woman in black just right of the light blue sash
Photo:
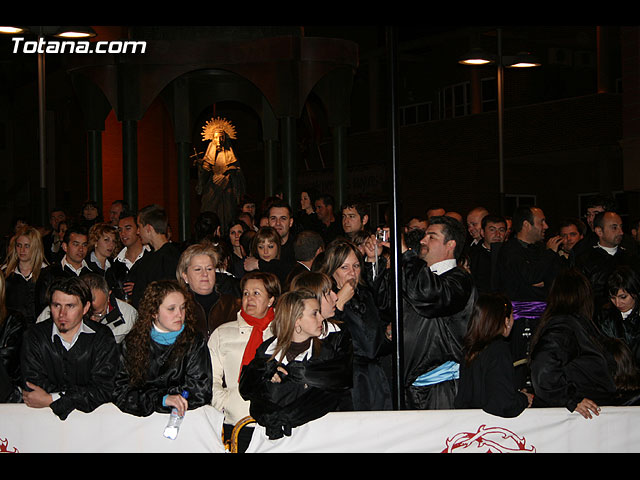
[[[476,300],[464,338],[464,361],[456,408],[480,408],[500,417],[517,417],[531,406],[533,395],[515,388],[507,338],[513,327],[511,302],[500,294]]]

